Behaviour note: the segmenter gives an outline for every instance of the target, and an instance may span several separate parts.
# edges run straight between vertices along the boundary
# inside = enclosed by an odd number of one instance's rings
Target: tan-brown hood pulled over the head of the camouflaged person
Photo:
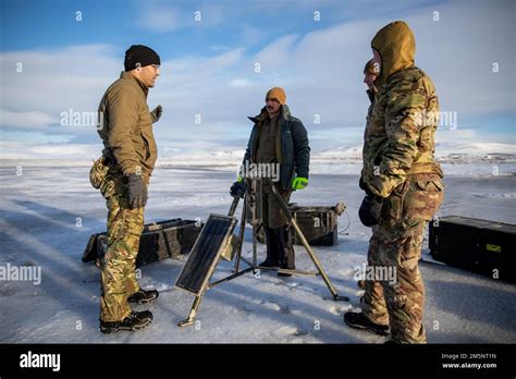
[[[413,30],[403,21],[395,21],[382,27],[372,38],[371,48],[382,58],[380,76],[377,78],[379,86],[385,84],[395,72],[414,66],[416,39]]]

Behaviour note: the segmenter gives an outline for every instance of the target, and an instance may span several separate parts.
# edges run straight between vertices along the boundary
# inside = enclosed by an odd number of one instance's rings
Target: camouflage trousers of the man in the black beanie
[[[146,182],[148,184],[148,179]],[[114,170],[100,187],[108,207],[108,246],[101,262],[100,319],[120,321],[130,313],[127,297],[139,291],[135,261],[144,230],[144,208],[131,209],[127,179]]]

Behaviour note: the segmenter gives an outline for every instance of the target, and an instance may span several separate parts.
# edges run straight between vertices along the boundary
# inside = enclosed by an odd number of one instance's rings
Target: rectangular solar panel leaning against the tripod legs
[[[175,281],[175,286],[195,295],[202,292],[222,249],[236,227],[234,217],[210,215]]]

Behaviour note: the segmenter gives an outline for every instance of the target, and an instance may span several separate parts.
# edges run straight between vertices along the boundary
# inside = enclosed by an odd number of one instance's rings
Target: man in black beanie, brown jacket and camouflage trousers
[[[134,311],[130,303],[145,304],[158,291],[142,290],[135,276],[139,237],[144,230],[149,176],[157,158],[152,122],[161,106],[149,112],[147,94],[159,76],[159,56],[136,45],[125,53],[125,72],[103,95],[99,105],[102,157],[90,179],[106,198],[108,246],[101,261],[100,330],[138,330],[150,323],[149,310]]]

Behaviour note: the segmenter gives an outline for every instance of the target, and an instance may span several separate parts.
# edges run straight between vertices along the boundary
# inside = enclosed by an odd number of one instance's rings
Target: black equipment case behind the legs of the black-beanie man
[[[165,258],[188,254],[199,235],[201,221],[173,219],[148,223],[139,239],[136,266],[145,266]],[[102,257],[108,237],[106,233],[93,234],[86,245],[82,260],[88,262]]]

